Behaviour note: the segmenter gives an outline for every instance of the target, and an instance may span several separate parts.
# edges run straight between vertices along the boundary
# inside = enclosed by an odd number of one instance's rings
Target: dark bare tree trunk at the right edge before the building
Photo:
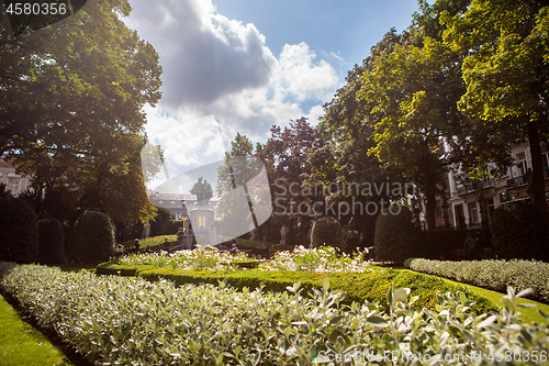
[[[545,189],[544,177],[544,162],[541,159],[541,145],[539,142],[539,132],[536,122],[528,122],[528,142],[530,144],[531,156],[531,189],[533,197],[530,197],[533,204],[538,208],[541,215],[549,223],[549,212],[547,210],[547,199]]]

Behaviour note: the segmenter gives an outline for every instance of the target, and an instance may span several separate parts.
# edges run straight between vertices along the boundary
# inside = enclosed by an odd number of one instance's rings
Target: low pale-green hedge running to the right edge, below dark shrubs
[[[531,288],[530,299],[549,303],[549,263],[537,260],[462,260],[445,262],[406,259],[410,269],[449,278],[459,282],[506,293],[507,286],[517,291]]]

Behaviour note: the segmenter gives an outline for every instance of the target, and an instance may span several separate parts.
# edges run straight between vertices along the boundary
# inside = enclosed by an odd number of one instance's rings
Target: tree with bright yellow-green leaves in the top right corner
[[[460,109],[479,131],[528,141],[533,199],[547,219],[540,147],[549,129],[547,3],[473,0],[467,12],[447,14],[441,22],[448,26],[445,42],[464,55],[467,91]]]

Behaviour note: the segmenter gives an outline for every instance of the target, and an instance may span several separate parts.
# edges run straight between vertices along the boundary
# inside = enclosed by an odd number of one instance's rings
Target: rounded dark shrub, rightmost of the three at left
[[[70,237],[69,259],[77,263],[107,262],[113,248],[114,236],[109,217],[98,211],[82,213]]]

